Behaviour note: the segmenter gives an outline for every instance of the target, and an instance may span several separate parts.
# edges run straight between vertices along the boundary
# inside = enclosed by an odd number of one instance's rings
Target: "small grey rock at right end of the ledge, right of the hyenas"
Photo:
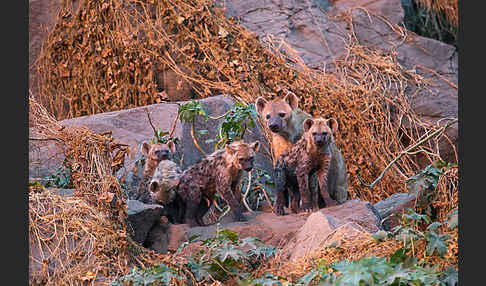
[[[375,209],[383,218],[383,228],[389,231],[400,224],[400,218],[391,215],[402,214],[408,208],[413,209],[416,198],[416,194],[396,193],[374,204]]]

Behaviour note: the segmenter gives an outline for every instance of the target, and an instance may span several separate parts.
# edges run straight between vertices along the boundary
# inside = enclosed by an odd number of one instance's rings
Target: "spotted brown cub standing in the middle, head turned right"
[[[231,207],[236,221],[246,221],[242,214],[240,180],[243,171],[253,168],[260,142],[236,141],[195,163],[184,171],[179,183],[179,196],[184,203],[184,223],[202,225],[208,210],[206,199],[212,201],[217,192]]]

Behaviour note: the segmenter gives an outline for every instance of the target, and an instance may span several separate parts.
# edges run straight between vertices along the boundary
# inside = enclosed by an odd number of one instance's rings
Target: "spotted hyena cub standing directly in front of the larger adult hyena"
[[[320,195],[326,206],[336,205],[328,192],[327,175],[331,162],[329,148],[334,140],[333,133],[337,131],[338,124],[333,118],[308,118],[303,123],[304,134],[290,149],[277,159],[275,180],[277,189],[276,214],[284,214],[285,192],[290,189],[290,209],[292,212],[319,210],[319,192],[309,190],[309,177],[316,173],[319,182]],[[295,189],[297,181],[298,191]],[[302,199],[302,207],[299,202]]]

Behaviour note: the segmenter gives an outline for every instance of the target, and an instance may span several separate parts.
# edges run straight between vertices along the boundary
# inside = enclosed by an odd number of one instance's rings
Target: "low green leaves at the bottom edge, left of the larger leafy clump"
[[[175,280],[183,281],[184,277],[177,275],[177,271],[163,263],[152,267],[139,269],[134,267],[132,271],[117,280],[111,286],[138,286],[138,285],[173,285]]]

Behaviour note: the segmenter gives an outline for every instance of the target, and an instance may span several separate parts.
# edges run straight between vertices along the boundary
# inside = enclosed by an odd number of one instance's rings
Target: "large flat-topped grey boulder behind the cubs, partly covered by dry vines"
[[[225,113],[233,104],[234,101],[225,95],[218,95],[210,98],[200,100],[209,115],[217,116]],[[170,131],[174,120],[177,116],[177,103],[159,103],[121,111],[112,111],[94,115],[87,115],[73,119],[62,120],[60,123],[64,126],[86,126],[90,130],[103,133],[112,131],[112,136],[115,140],[128,144],[130,154],[125,159],[125,167],[119,170],[117,176],[127,180],[125,183],[129,188],[138,186],[140,176],[133,177],[130,174],[135,167],[136,159],[140,156],[140,144],[149,140],[154,136],[152,127],[150,126],[145,110],[150,113],[152,123],[156,128]],[[207,130],[207,134],[201,135],[198,138],[199,145],[206,153],[214,151],[214,143],[206,143],[205,140],[215,138],[218,132],[218,126],[222,119],[204,121],[201,118],[196,118],[195,130]],[[174,129],[174,136],[180,139],[180,144],[177,144],[176,154],[173,158],[175,162],[182,161],[182,169],[194,164],[197,160],[202,158],[202,154],[197,150],[190,135],[191,125],[177,121]],[[35,130],[29,130],[30,136],[34,136]],[[40,135],[36,135],[41,137]],[[262,136],[260,127],[257,124],[255,128],[249,128],[244,137],[245,142],[260,140],[262,147],[257,153],[255,165],[267,172],[272,172],[272,163],[265,150],[269,150],[269,145]],[[64,159],[61,150],[52,141],[31,141],[29,148],[29,173],[34,177],[49,176],[61,166]],[[138,166],[140,169],[140,166]],[[140,171],[140,170],[139,170]],[[138,171],[138,172],[139,172]],[[137,172],[135,172],[137,173]]]

